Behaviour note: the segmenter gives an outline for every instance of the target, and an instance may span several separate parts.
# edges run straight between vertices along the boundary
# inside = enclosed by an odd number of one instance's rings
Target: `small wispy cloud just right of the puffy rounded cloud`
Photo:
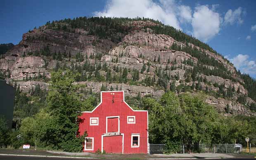
[[[224,25],[227,25],[227,24],[232,25],[235,22],[237,22],[237,24],[242,24],[244,22],[244,20],[242,20],[242,18],[241,18],[242,12],[243,12],[242,7],[238,7],[234,11],[232,11],[232,9],[229,9],[224,16],[223,24]]]

